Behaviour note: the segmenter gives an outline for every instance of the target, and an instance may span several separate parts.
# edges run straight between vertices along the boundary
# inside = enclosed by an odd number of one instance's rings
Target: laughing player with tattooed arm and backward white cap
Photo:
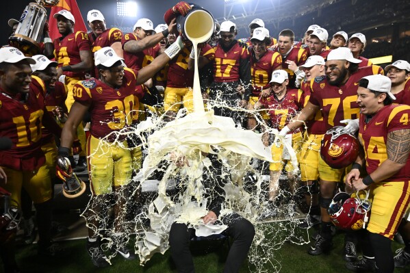
[[[392,105],[392,82],[383,75],[359,81],[359,142],[363,147],[346,176],[353,190],[370,190],[372,208],[363,258],[347,263],[355,272],[394,272],[392,239],[410,205],[410,106]],[[361,178],[366,164],[368,175]]]

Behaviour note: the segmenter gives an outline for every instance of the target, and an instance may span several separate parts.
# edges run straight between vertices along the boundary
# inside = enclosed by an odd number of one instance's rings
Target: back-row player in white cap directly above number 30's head
[[[90,10],[87,14],[88,27],[91,29],[91,33],[88,34],[91,42],[91,52],[102,49],[103,47],[112,47],[118,56],[123,57],[123,47],[121,45],[121,38],[123,38],[123,32],[116,27],[107,29],[107,23],[105,18],[99,10]],[[98,78],[97,68],[94,69],[93,75]]]

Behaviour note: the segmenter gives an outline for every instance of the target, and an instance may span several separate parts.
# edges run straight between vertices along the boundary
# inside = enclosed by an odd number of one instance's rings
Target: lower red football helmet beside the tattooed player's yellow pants
[[[350,197],[346,192],[339,192],[333,197],[327,212],[335,226],[354,231],[366,227],[371,205],[368,200],[369,192],[364,192],[366,197],[363,200],[359,198],[359,192],[355,197]]]

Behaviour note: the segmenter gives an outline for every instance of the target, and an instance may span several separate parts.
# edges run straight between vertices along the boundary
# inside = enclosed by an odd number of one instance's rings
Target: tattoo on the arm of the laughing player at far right
[[[392,131],[387,134],[387,158],[405,164],[410,151],[410,129]]]

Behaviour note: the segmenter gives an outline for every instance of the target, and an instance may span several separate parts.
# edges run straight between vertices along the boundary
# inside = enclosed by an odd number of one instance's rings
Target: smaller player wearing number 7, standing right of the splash
[[[259,102],[255,105],[255,109],[260,109],[264,107],[268,112],[270,117],[270,127],[281,130],[287,125],[287,123],[296,116],[296,113],[302,109],[303,104],[301,103],[301,90],[292,89],[287,90],[287,84],[289,79],[287,77],[287,72],[285,70],[275,70],[272,73],[270,79],[270,96],[262,97]],[[269,145],[269,135],[264,133],[262,136],[262,141],[265,146]],[[297,159],[300,155],[300,145],[302,143],[302,133],[299,128],[294,131],[289,131],[285,136],[287,141],[292,143],[292,148],[296,153]],[[272,159],[273,163],[270,163],[270,185],[269,185],[269,205],[264,210],[261,215],[261,218],[268,218],[275,216],[275,211],[273,209],[273,203],[278,205],[277,195],[279,191],[279,177],[283,170],[283,161],[284,159],[286,166],[285,170],[287,172],[289,186],[292,192],[292,195],[296,191],[296,179],[297,174],[294,174],[293,166],[290,162],[290,155],[284,146],[279,143],[279,145],[272,145]]]

